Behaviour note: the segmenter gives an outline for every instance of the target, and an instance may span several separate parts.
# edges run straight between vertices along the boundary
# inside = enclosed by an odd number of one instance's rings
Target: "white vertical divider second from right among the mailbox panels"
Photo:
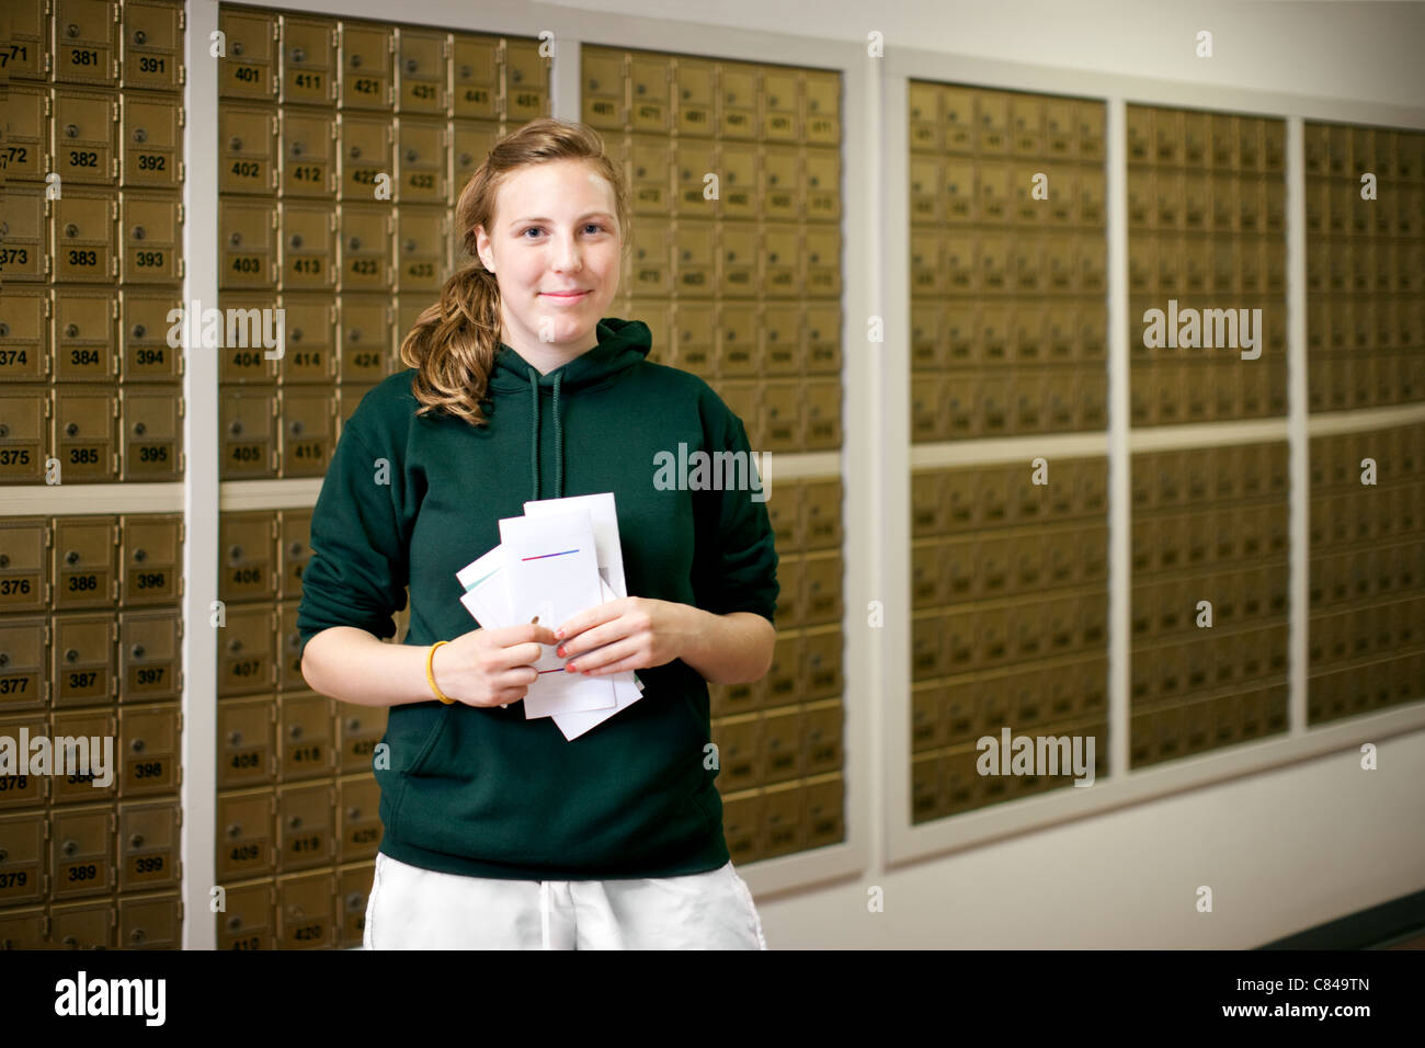
[[[1133,630],[1133,456],[1129,449],[1127,103],[1107,98],[1104,197],[1109,237],[1109,779],[1129,773],[1129,662]]]

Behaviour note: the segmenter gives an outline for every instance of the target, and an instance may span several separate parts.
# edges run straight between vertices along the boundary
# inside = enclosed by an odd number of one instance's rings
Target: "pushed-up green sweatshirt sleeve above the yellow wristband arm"
[[[403,479],[395,455],[373,453],[358,428],[346,425],[312,510],[312,556],[296,610],[302,650],[332,626],[355,626],[382,640],[396,635],[392,616],[406,606],[409,583]]]

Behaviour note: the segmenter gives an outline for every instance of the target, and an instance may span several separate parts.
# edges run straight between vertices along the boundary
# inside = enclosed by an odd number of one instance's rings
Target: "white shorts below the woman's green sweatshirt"
[[[732,864],[687,877],[512,881],[422,870],[385,853],[368,950],[767,950]]]

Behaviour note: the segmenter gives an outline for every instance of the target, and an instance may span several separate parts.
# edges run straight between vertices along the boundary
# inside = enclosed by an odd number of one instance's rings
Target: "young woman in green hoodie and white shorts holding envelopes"
[[[389,706],[368,948],[767,948],[728,861],[707,682],[772,657],[777,552],[750,490],[656,483],[685,443],[751,451],[698,376],[604,318],[624,180],[583,124],[503,138],[456,205],[469,265],[342,431],[312,516],[302,674]],[[569,622],[470,629],[456,572],[523,503],[614,492],[630,595]],[[392,615],[410,590],[405,644]],[[566,740],[519,702],[542,646],[637,670],[643,697]]]

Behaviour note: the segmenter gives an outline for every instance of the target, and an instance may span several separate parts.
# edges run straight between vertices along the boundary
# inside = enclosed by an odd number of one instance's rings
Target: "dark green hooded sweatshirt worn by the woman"
[[[408,644],[476,629],[456,572],[500,543],[524,502],[613,492],[630,596],[774,620],[777,550],[765,502],[694,490],[657,461],[750,452],[742,421],[697,375],[647,361],[648,327],[606,318],[598,345],[540,375],[500,346],[489,426],[416,416],[413,369],[389,376],[342,431],[312,513],[302,646],[331,626]],[[661,459],[656,456],[664,453]],[[697,475],[693,478],[697,482]],[[678,489],[678,488],[684,489]],[[728,861],[714,786],[708,689],[674,659],[638,670],[643,697],[566,740],[549,717],[429,703],[390,707],[380,850],[442,873],[516,880],[678,877]],[[378,750],[378,753],[380,753]]]

